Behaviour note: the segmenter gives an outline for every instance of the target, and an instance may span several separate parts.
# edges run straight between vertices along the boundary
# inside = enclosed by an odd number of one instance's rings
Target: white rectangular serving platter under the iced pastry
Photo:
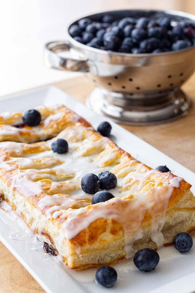
[[[105,117],[95,114],[85,105],[55,87],[47,87],[1,99],[0,109],[1,112],[23,111],[40,104],[54,105],[56,103],[68,106],[88,120],[94,128],[105,120]],[[107,118],[106,120],[109,121]],[[152,168],[166,164],[172,173],[184,177],[192,185],[195,183],[193,172],[131,132],[112,121],[110,123],[112,125],[111,139],[119,147]],[[195,184],[191,190],[195,194]],[[74,272],[45,254],[42,249],[37,249],[33,238],[30,235],[25,237],[25,231],[20,228],[20,221],[13,221],[2,210],[0,210],[0,240],[46,292],[187,293],[195,290],[195,237],[194,246],[186,254],[176,251],[173,246],[160,248],[158,250],[160,263],[152,272],[140,272],[134,267],[132,260],[118,262],[114,265],[118,272],[118,280],[110,289],[95,284],[95,269]]]

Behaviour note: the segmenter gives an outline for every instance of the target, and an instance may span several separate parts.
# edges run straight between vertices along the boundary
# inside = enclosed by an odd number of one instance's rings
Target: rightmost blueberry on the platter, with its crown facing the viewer
[[[175,236],[173,244],[177,250],[185,252],[192,248],[193,240],[188,233],[181,232]]]

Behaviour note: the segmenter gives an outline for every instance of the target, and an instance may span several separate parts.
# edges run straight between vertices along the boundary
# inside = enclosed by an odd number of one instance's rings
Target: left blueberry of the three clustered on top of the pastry
[[[99,185],[100,180],[93,173],[87,173],[81,179],[81,188],[85,193],[96,193],[99,190]]]

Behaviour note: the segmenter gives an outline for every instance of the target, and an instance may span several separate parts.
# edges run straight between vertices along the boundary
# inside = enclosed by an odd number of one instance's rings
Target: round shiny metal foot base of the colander
[[[192,100],[181,89],[176,89],[162,98],[159,97],[158,102],[151,98],[149,103],[146,103],[146,98],[131,100],[123,94],[118,95],[118,99],[116,96],[113,99],[113,93],[96,87],[87,97],[86,105],[95,113],[129,125],[169,122],[186,116],[192,107]]]

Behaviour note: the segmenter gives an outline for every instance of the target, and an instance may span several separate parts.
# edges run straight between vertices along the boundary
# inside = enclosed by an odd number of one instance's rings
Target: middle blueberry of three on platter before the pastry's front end
[[[133,262],[140,271],[154,270],[159,263],[159,255],[154,249],[143,248],[134,255]]]

